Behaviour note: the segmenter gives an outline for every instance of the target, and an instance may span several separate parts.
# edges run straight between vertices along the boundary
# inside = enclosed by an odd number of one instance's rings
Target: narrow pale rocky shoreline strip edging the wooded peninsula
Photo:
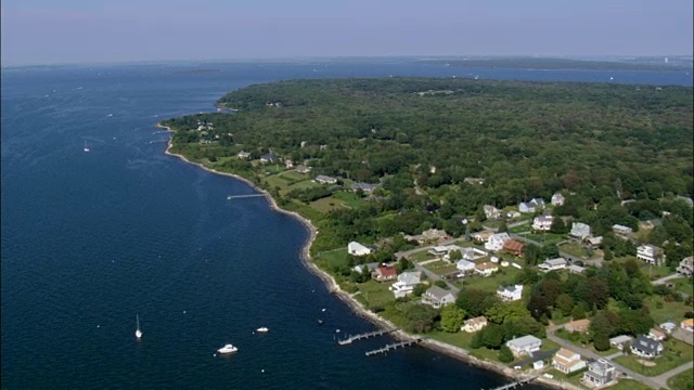
[[[171,130],[169,127],[163,126],[160,122],[156,123],[157,128],[162,128],[165,129],[167,132],[171,132],[175,133],[175,130]],[[345,302],[357,315],[368,320],[369,322],[371,322],[372,324],[380,326],[380,327],[384,327],[384,328],[390,328],[390,329],[395,329],[397,328],[397,326],[395,324],[393,324],[391,322],[389,322],[388,320],[383,318],[382,316],[373,313],[370,310],[367,310],[363,304],[361,304],[361,302],[359,302],[358,300],[356,300],[349,292],[343,290],[342,288],[339,288],[339,285],[337,284],[337,282],[335,282],[335,278],[333,278],[333,276],[331,276],[327,272],[321,270],[320,268],[318,268],[318,265],[316,265],[316,263],[313,261],[311,261],[311,255],[310,255],[310,248],[311,245],[313,244],[313,240],[316,239],[316,234],[317,234],[317,230],[316,226],[313,226],[313,224],[311,223],[310,220],[301,217],[299,213],[295,212],[295,211],[288,211],[285,209],[282,209],[278,206],[277,202],[274,200],[274,198],[270,195],[270,193],[268,193],[267,191],[259,188],[258,186],[256,186],[255,183],[253,183],[252,181],[249,181],[246,178],[243,178],[241,176],[234,174],[234,173],[228,173],[228,172],[220,172],[217,171],[215,169],[209,169],[207,167],[205,167],[204,165],[202,165],[201,162],[194,162],[189,160],[188,158],[185,158],[185,156],[178,154],[178,153],[171,153],[170,150],[174,146],[174,143],[171,141],[171,139],[169,139],[167,146],[166,146],[166,151],[164,152],[164,154],[169,155],[169,156],[174,156],[177,157],[188,164],[192,164],[194,166],[197,166],[198,168],[202,168],[203,170],[210,172],[210,173],[215,173],[215,174],[220,174],[220,176],[224,176],[224,177],[229,177],[232,179],[236,179],[240,180],[246,184],[248,184],[250,187],[253,187],[254,190],[258,191],[259,193],[261,193],[262,195],[265,195],[265,197],[269,200],[270,203],[270,208],[274,211],[291,216],[293,218],[295,218],[297,221],[299,221],[299,223],[301,223],[301,225],[305,226],[305,229],[308,231],[309,236],[306,239],[306,242],[304,243],[304,246],[301,247],[301,252],[300,252],[300,259],[301,259],[301,263],[309,270],[309,272],[313,273],[314,275],[317,275],[319,278],[321,278],[321,281],[323,281],[323,283],[325,284],[325,287],[327,288],[327,290],[331,294],[334,294],[337,296],[337,298],[339,298],[343,302]],[[395,338],[399,339],[399,340],[415,340],[419,337],[417,335],[410,335],[403,330],[397,330],[394,332],[393,334],[390,334],[391,336],[394,336]],[[438,340],[432,340],[432,339],[423,339],[420,342],[420,346],[424,347],[424,348],[428,348],[430,350],[434,350],[436,352],[439,353],[444,353],[446,355],[449,355],[451,358],[458,359],[460,361],[463,361],[470,365],[473,366],[477,366],[477,367],[481,367],[481,368],[486,368],[489,370],[492,370],[494,373],[501,374],[505,377],[512,378],[512,379],[524,379],[527,378],[527,375],[524,375],[522,373],[515,372],[513,370],[511,367],[507,367],[505,365],[501,365],[494,362],[489,362],[489,361],[481,361],[475,356],[472,356],[467,353],[465,353],[463,350],[459,349],[455,346],[451,346],[451,344],[447,344],[445,342],[438,341]],[[581,388],[575,387],[570,384],[566,384],[566,382],[558,382],[555,380],[551,380],[551,379],[547,379],[544,377],[538,377],[537,379],[534,380],[534,382],[541,382],[543,385],[547,386],[552,386],[556,389],[565,389],[565,390],[582,390]]]

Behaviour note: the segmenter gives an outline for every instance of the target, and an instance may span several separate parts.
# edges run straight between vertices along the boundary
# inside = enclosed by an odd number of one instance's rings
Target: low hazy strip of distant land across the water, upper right
[[[498,67],[512,69],[587,69],[587,70],[684,70],[691,72],[691,61],[689,66],[682,64],[655,64],[644,62],[626,61],[589,61],[568,58],[543,58],[543,57],[491,57],[491,58],[451,58],[451,60],[423,60],[422,63],[438,64],[447,66],[466,67]]]

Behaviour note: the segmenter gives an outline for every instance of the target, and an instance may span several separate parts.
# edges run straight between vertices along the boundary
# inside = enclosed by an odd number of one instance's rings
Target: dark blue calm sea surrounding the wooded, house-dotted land
[[[219,72],[178,73],[195,68]],[[4,68],[2,388],[480,389],[506,382],[423,348],[364,356],[387,337],[337,346],[336,336],[374,326],[301,265],[303,226],[264,198],[227,200],[254,190],[164,155],[167,135],[154,128],[164,118],[210,112],[223,93],[252,83],[389,75],[692,84],[684,72],[398,61]],[[254,334],[259,326],[270,333]],[[228,342],[240,352],[214,356]]]

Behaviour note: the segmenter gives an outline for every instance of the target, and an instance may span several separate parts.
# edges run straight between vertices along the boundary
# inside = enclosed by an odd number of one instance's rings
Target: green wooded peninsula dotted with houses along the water
[[[167,153],[307,221],[309,268],[398,337],[555,387],[679,389],[694,359],[692,94],[287,80],[159,126]]]

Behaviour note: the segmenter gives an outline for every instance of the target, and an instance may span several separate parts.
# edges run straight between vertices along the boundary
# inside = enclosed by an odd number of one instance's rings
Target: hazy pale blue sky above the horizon
[[[692,0],[3,0],[2,64],[692,53]]]

